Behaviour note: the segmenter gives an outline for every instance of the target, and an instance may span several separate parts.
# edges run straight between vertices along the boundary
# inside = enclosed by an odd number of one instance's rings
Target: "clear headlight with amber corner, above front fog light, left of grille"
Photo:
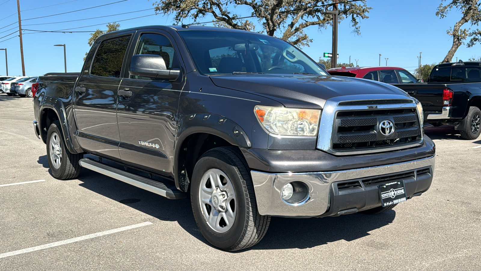
[[[255,115],[267,131],[281,136],[316,136],[321,110],[256,106]]]

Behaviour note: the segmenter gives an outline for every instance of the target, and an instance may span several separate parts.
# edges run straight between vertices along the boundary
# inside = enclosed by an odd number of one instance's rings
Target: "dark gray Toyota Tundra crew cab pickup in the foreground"
[[[434,173],[416,99],[330,76],[262,34],[116,31],[95,41],[79,74],[38,81],[34,128],[54,177],[87,168],[189,197],[203,236],[229,251],[259,242],[271,216],[390,210]]]

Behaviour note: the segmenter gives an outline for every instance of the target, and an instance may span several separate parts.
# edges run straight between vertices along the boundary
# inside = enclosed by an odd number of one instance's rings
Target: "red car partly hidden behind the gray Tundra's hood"
[[[398,67],[342,67],[328,69],[330,75],[364,78],[388,84],[421,83],[404,68]]]

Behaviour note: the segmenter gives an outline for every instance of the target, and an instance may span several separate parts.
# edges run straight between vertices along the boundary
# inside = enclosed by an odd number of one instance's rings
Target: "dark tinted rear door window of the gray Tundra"
[[[97,54],[95,54],[90,74],[120,78],[120,71],[122,70],[122,63],[124,62],[129,41],[130,36],[102,41]]]

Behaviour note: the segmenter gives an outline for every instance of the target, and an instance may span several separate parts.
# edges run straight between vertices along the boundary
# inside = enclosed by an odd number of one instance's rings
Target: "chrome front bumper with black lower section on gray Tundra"
[[[410,162],[343,171],[251,171],[251,175],[259,214],[277,217],[325,217],[380,206],[377,188],[383,183],[383,179],[403,179],[408,198],[425,192],[432,181],[434,162],[435,156],[431,156]],[[299,204],[286,203],[281,198],[280,191],[291,182],[303,183],[309,190],[308,198]]]

